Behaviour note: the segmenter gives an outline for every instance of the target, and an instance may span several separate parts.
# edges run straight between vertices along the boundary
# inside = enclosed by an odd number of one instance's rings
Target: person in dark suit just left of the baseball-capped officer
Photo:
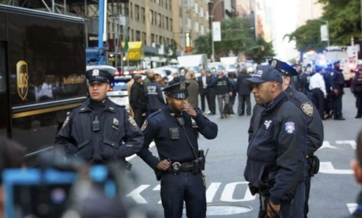
[[[244,115],[245,104],[246,104],[246,115],[251,114],[250,104],[250,93],[251,84],[245,84],[242,82],[243,79],[250,78],[250,74],[247,73],[246,68],[242,68],[237,79],[237,90],[238,90],[238,115]]]

